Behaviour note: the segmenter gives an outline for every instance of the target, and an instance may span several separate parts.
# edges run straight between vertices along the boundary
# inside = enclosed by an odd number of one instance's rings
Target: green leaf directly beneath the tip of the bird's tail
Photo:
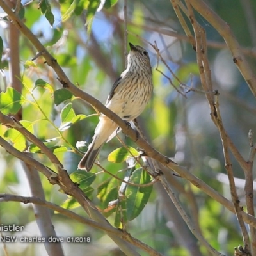
[[[96,175],[92,172],[85,172],[85,171],[76,171],[70,174],[70,179],[73,182],[79,184],[79,188],[84,191],[87,189],[90,184],[95,180]]]

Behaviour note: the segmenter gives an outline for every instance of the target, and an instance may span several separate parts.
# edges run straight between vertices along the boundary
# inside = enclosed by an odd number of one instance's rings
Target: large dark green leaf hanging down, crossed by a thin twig
[[[134,184],[147,184],[150,182],[150,179],[150,175],[143,168],[138,168],[132,173],[130,182]],[[127,186],[125,191],[127,220],[131,221],[140,214],[148,202],[152,188],[153,186],[141,188],[131,185]]]

